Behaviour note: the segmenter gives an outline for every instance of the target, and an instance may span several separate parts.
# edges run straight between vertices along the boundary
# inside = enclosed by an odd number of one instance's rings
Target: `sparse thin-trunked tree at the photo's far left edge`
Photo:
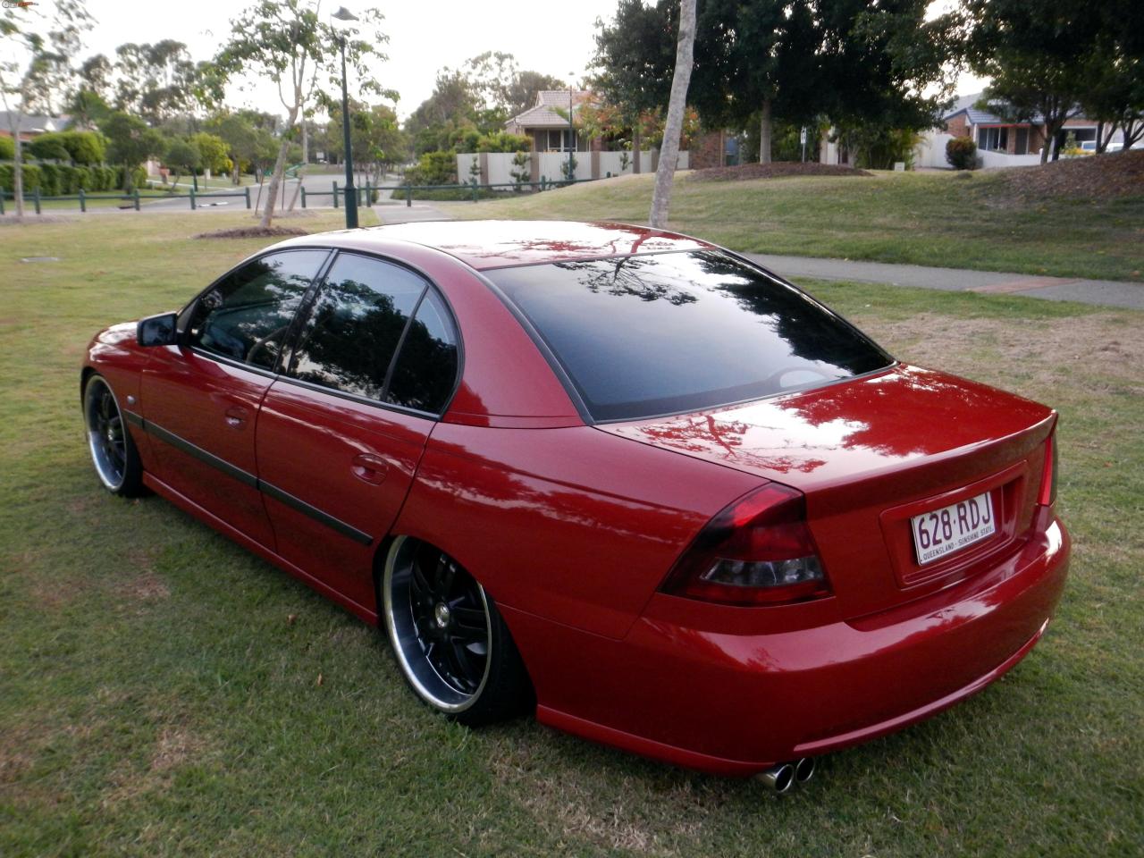
[[[0,18],[0,102],[8,111],[14,143],[13,191],[16,216],[24,216],[24,165],[19,127],[37,110],[51,112],[53,103],[72,76],[70,57],[79,53],[81,33],[90,17],[79,0],[57,0],[51,16],[35,6],[5,11]]]

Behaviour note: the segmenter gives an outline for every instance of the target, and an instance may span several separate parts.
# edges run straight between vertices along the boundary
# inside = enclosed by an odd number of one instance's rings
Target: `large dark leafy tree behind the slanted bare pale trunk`
[[[819,117],[923,128],[951,86],[959,18],[925,21],[927,0],[706,0],[698,13],[690,101],[708,127],[758,128]],[[597,86],[629,121],[667,103],[677,6],[620,0],[596,39]],[[923,96],[930,84],[939,92]]]

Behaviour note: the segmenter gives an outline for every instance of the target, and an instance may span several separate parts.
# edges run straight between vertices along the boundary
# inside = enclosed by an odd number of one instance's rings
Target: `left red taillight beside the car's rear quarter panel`
[[[661,589],[729,605],[828,596],[802,492],[770,483],[737,500],[699,532]]]

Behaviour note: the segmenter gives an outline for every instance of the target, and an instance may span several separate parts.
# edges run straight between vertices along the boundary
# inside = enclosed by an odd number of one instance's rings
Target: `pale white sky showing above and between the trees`
[[[935,0],[932,10],[954,0]],[[49,5],[51,0],[41,0]],[[86,0],[96,19],[87,34],[87,54],[114,55],[124,42],[185,42],[194,59],[212,56],[230,33],[229,19],[252,0]],[[321,0],[328,15],[343,2]],[[344,0],[350,11],[376,8],[386,16],[382,30],[389,43],[387,62],[373,72],[386,88],[400,94],[398,116],[416,110],[432,93],[437,72],[458,67],[486,50],[515,55],[521,69],[581,80],[595,53],[596,19],[610,21],[617,0],[575,0],[571,3],[529,3],[521,0],[426,0],[424,2],[368,2]],[[979,92],[982,81],[970,76],[959,81],[959,94]],[[268,81],[252,81],[245,92],[228,92],[232,106],[285,112]]]

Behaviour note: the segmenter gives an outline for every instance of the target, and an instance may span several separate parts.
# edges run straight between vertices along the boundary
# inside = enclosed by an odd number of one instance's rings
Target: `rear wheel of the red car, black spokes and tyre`
[[[398,537],[381,580],[398,667],[424,702],[475,726],[519,714],[529,677],[492,597],[456,561]]]

